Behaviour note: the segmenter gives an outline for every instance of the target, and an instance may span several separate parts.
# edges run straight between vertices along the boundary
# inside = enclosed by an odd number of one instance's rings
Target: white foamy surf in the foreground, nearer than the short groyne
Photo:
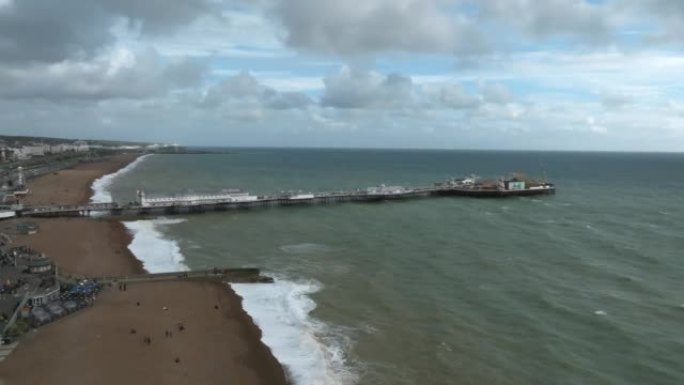
[[[263,342],[289,371],[296,385],[343,385],[356,382],[347,364],[349,339],[313,319],[310,295],[317,281],[276,278],[273,284],[232,284],[245,311],[262,332]]]

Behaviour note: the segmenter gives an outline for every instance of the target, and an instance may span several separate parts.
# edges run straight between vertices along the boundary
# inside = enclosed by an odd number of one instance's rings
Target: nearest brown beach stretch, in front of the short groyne
[[[7,384],[285,383],[245,317],[239,297],[218,282],[128,284],[31,333],[0,368]]]

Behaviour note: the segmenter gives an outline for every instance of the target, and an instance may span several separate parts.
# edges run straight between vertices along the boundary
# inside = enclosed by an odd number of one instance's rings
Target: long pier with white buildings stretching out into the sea
[[[516,186],[501,182],[500,185],[480,186],[459,182],[436,183],[433,186],[402,187],[378,186],[351,191],[321,193],[283,193],[279,195],[249,195],[231,190],[215,195],[187,195],[169,197],[146,197],[138,192],[139,200],[126,204],[89,203],[82,205],[22,206],[15,210],[20,217],[88,217],[88,216],[155,216],[206,213],[253,209],[259,207],[339,204],[346,202],[381,202],[407,200],[435,196],[465,196],[474,198],[507,198],[515,196],[546,195],[555,193],[552,184]]]

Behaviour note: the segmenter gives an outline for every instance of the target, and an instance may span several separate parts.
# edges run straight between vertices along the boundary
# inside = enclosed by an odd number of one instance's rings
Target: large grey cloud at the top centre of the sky
[[[479,53],[483,41],[465,18],[440,0],[280,0],[270,14],[288,46],[345,56],[381,52]]]

